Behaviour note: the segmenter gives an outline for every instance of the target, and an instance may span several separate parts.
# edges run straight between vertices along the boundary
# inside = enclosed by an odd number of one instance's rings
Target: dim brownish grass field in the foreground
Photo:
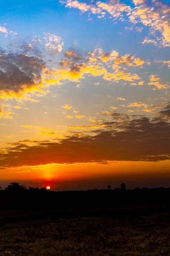
[[[169,256],[170,215],[4,222],[0,256]]]

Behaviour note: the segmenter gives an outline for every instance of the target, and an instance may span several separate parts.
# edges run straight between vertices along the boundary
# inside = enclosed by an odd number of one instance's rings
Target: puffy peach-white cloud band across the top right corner
[[[113,20],[130,20],[133,25],[142,23],[150,28],[150,34],[156,34],[156,39],[144,39],[143,43],[159,44],[161,47],[170,46],[170,8],[166,3],[153,0],[134,0],[134,7],[121,3],[119,0],[110,0],[106,3],[97,1],[95,4],[87,4],[77,0],[61,1],[65,7],[77,8],[81,12],[97,15],[98,18],[112,18]],[[138,30],[138,26],[136,26]],[[159,34],[161,36],[159,36]],[[150,41],[151,40],[151,41]]]

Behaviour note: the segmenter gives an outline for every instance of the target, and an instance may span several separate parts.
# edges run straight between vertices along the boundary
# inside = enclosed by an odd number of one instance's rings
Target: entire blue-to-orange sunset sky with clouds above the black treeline
[[[0,0],[0,186],[170,186],[170,1]]]

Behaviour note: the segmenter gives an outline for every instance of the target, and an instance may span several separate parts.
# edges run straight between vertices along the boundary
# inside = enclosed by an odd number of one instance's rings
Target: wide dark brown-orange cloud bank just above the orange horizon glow
[[[69,136],[59,142],[35,141],[31,146],[24,141],[16,142],[5,152],[1,150],[0,166],[169,160],[170,123],[164,119],[169,116],[169,110],[167,106],[164,113],[160,111],[157,119],[113,113],[113,121],[103,122],[103,129],[93,136],[81,133],[81,136]],[[86,129],[86,126],[80,128]]]

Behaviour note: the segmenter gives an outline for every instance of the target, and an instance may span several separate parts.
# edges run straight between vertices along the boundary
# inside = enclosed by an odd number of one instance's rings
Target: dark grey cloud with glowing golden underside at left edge
[[[19,98],[42,91],[41,73],[45,62],[37,56],[0,49],[0,98]]]

